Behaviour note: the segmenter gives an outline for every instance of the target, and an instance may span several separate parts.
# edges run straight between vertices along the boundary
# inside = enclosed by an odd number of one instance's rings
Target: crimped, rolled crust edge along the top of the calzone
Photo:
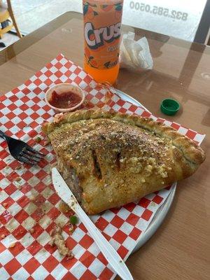
[[[60,114],[59,114],[60,116]],[[127,115],[115,111],[102,111],[99,109],[89,109],[80,110],[73,113],[66,113],[63,118],[59,118],[56,123],[45,123],[43,125],[43,132],[49,134],[56,127],[64,123],[75,123],[78,120],[89,120],[97,118],[109,118],[112,120],[117,120],[121,123],[126,123],[128,125],[136,125],[137,127],[142,127],[146,130],[153,131],[157,133],[160,137],[166,137],[172,139],[174,146],[181,149],[186,159],[197,165],[200,165],[205,160],[205,154],[202,148],[197,146],[188,137],[183,136],[173,127],[167,127],[160,122],[155,122],[151,118],[142,118],[140,116]]]

